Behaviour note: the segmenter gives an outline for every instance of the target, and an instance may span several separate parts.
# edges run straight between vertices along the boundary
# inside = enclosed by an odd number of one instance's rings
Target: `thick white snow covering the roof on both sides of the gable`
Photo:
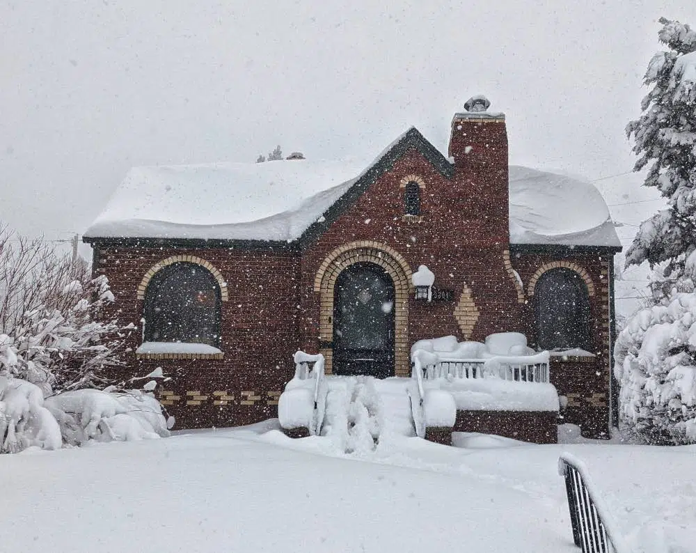
[[[85,235],[290,242],[372,166],[292,159],[137,167]],[[619,246],[589,182],[511,166],[509,187],[513,244]]]

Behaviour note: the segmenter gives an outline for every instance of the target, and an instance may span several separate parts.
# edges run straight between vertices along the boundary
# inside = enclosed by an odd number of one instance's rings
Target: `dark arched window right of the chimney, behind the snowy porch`
[[[537,345],[542,350],[591,351],[590,297],[583,278],[570,269],[553,269],[535,286]]]

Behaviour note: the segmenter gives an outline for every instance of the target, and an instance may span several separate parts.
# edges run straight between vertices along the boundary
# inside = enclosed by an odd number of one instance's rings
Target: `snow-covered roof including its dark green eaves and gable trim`
[[[123,247],[301,251],[412,149],[443,178],[452,178],[454,165],[415,127],[363,171],[357,162],[305,159],[132,169],[83,240]],[[509,171],[512,251],[621,250],[606,203],[592,184],[519,166]],[[173,198],[177,194],[179,201]],[[271,209],[248,217],[264,203]]]

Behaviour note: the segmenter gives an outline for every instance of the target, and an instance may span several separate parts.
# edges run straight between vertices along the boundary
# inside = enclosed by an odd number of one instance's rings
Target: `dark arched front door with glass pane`
[[[351,265],[336,279],[333,373],[394,375],[394,283],[374,263]]]

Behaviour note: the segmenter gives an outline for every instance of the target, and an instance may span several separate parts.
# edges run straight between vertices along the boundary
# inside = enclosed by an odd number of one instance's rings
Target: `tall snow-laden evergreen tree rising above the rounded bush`
[[[656,297],[674,286],[691,291],[696,268],[696,31],[688,24],[660,20],[658,36],[669,47],[653,56],[644,77],[650,87],[642,115],[628,123],[638,155],[634,170],[648,166],[644,185],[656,187],[668,208],[640,225],[626,265],[665,262]]]

